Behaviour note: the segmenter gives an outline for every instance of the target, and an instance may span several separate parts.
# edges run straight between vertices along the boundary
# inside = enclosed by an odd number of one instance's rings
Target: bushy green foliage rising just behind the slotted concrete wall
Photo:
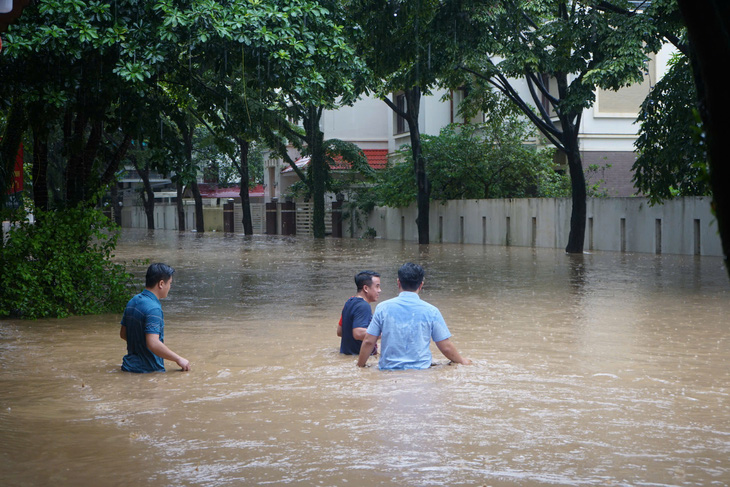
[[[424,135],[432,200],[566,194],[567,181],[555,172],[552,151],[538,151],[525,143],[531,131],[528,124],[512,116],[488,124],[452,124],[438,136]],[[398,207],[416,200],[413,172],[403,163],[410,157],[410,148],[401,148],[395,162],[376,176],[377,204]]]

